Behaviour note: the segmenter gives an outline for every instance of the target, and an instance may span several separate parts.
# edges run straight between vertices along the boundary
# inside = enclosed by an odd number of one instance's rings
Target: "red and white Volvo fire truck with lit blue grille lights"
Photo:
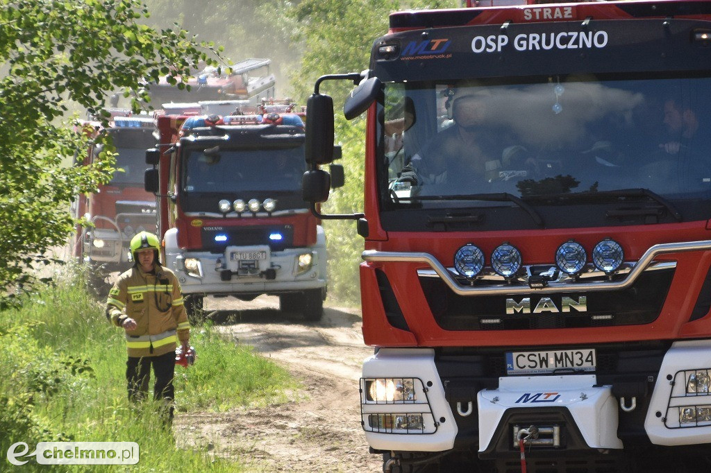
[[[285,312],[320,320],[326,237],[301,200],[304,123],[296,114],[164,115],[146,190],[158,195],[166,266],[186,295],[278,295]]]

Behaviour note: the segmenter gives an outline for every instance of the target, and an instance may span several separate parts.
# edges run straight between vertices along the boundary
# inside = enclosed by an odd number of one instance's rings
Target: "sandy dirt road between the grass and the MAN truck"
[[[360,366],[373,349],[363,345],[357,311],[326,308],[321,322],[303,323],[284,317],[279,300],[267,296],[208,298],[205,308],[216,310],[218,330],[284,366],[304,391],[279,406],[178,415],[188,442],[238,457],[254,472],[382,471],[360,427]]]

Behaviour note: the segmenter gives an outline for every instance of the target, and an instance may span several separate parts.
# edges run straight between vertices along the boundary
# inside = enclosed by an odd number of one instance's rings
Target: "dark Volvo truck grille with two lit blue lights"
[[[269,238],[279,234],[282,239]],[[227,237],[225,241],[215,241],[215,236]],[[222,229],[202,229],[203,248],[213,253],[222,253],[228,246],[269,245],[272,251],[282,251],[294,246],[292,225],[259,225],[255,227],[223,227]]]

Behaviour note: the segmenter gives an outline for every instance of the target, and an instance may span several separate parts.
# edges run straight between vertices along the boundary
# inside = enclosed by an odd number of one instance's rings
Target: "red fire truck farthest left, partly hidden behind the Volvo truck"
[[[90,195],[77,195],[72,204],[76,218],[85,217],[92,227],[77,227],[74,256],[104,270],[124,271],[129,265],[129,244],[134,234],[156,231],[156,203],[154,196],[142,185],[145,150],[155,146],[153,119],[133,115],[125,109],[109,109],[112,115],[109,128],[98,122],[87,121],[82,129],[92,134],[106,133],[116,147],[116,168],[111,182]],[[84,165],[92,163],[103,146],[90,146]],[[98,271],[98,269],[97,269]],[[101,274],[104,271],[100,271]]]

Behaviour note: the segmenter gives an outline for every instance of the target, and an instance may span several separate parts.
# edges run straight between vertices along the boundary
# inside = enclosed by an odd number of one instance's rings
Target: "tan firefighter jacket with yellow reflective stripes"
[[[177,342],[190,339],[188,314],[180,283],[173,271],[156,264],[154,273],[139,266],[126,271],[109,291],[106,316],[121,327],[127,317],[137,327],[126,332],[129,357],[156,357],[174,352]]]

